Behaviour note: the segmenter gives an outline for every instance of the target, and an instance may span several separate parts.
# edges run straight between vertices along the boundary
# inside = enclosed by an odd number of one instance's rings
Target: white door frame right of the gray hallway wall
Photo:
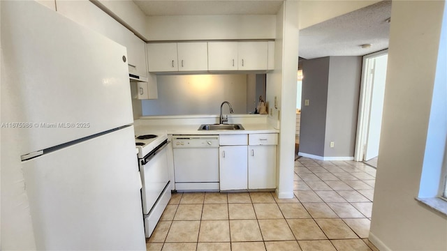
[[[369,127],[369,115],[371,112],[372,82],[369,75],[370,63],[377,56],[388,54],[388,49],[374,52],[363,56],[362,62],[362,82],[360,83],[360,100],[358,103],[357,136],[356,148],[354,150],[354,160],[363,161],[365,155],[365,144]]]

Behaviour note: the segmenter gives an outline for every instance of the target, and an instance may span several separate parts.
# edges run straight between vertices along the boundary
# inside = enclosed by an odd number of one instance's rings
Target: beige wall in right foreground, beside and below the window
[[[393,1],[369,234],[379,250],[447,250],[446,216],[414,199],[425,157],[445,4]],[[440,70],[446,74],[445,68]]]

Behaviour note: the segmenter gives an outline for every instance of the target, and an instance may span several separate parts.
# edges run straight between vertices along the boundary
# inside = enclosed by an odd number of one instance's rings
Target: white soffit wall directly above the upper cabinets
[[[275,15],[147,17],[149,40],[274,39]]]

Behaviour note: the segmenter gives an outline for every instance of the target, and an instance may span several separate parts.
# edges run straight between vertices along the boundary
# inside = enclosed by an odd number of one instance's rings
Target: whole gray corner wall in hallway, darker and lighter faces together
[[[303,61],[302,71],[300,152],[353,157],[362,57],[310,59]],[[330,148],[330,142],[335,147]]]

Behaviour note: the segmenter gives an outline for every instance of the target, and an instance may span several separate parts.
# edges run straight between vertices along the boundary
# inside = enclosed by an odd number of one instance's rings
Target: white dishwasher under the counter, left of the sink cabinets
[[[175,190],[219,190],[219,135],[173,135]]]

